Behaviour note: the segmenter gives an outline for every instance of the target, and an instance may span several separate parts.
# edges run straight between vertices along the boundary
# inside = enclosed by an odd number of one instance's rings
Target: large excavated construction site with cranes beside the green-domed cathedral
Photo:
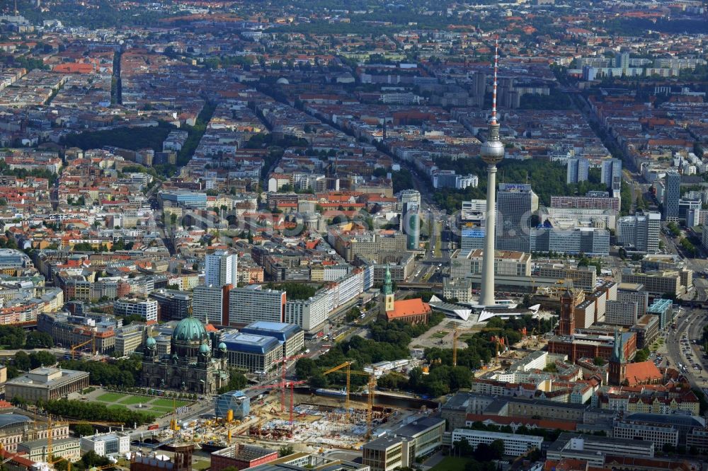
[[[234,443],[288,443],[310,452],[326,448],[356,450],[376,435],[377,428],[387,428],[383,425],[396,424],[420,412],[413,403],[411,407],[396,405],[395,410],[376,405],[376,374],[355,371],[351,364],[347,361],[323,373],[336,376],[332,379],[344,386],[342,390],[319,389],[315,394],[304,381],[287,380],[283,362],[278,383],[235,392],[235,397],[246,402],[245,407],[229,402],[217,407],[215,416],[185,421],[174,415],[169,429],[154,431],[151,441],[193,443],[206,452]]]

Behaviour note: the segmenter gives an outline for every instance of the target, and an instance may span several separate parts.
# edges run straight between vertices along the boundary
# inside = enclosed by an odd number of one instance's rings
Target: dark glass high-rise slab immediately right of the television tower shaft
[[[500,218],[496,228],[498,250],[530,252],[531,216],[538,210],[538,196],[531,185],[499,185],[496,208]]]

